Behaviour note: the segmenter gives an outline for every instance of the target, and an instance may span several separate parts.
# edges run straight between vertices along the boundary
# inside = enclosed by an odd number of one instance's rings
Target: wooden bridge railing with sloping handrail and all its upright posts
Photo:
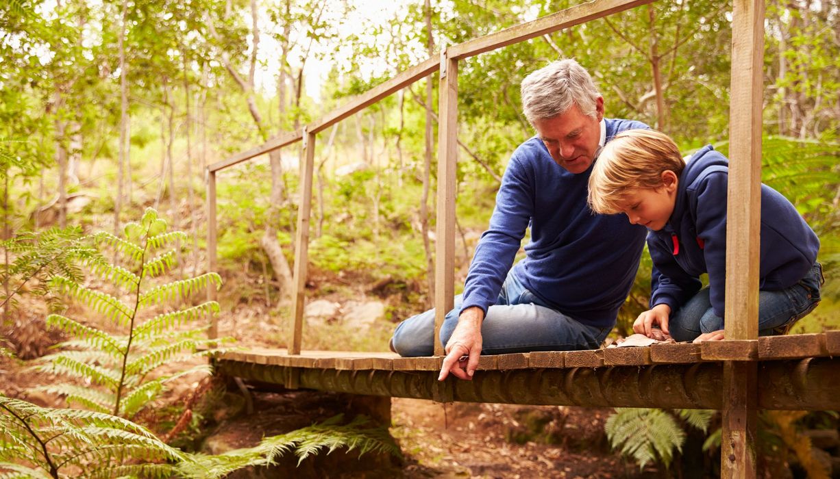
[[[301,130],[271,138],[259,147],[236,154],[207,168],[207,266],[216,269],[216,173],[261,154],[303,141],[300,201],[294,267],[294,310],[288,351],[301,352],[304,285],[307,279],[309,218],[312,200],[312,166],[317,134],[386,96],[412,85],[433,72],[440,72],[438,113],[437,246],[434,306],[436,309],[434,354],[443,355],[438,331],[444,315],[453,308],[455,238],[455,167],[458,129],[458,62],[480,53],[499,49],[603,18],[654,0],[594,0],[561,12],[522,23],[462,44],[442,49],[433,56],[365,92],[343,107],[328,113]],[[758,393],[757,362],[744,354],[756,347],[759,305],[759,244],[762,59],[764,44],[763,0],[734,0],[732,11],[732,84],[730,103],[730,174],[727,221],[726,343],[730,359],[723,367],[722,476],[754,477],[754,437]],[[208,295],[215,299],[215,290]],[[210,335],[218,326],[213,322]]]

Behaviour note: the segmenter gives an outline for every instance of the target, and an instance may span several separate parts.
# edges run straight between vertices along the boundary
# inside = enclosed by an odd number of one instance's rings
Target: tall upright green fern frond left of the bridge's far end
[[[122,334],[111,334],[64,315],[48,316],[49,325],[77,339],[61,345],[67,348],[66,351],[42,358],[39,370],[57,372],[96,387],[55,383],[42,389],[100,413],[131,418],[163,393],[166,383],[189,372],[207,371],[207,366],[199,366],[155,377],[150,375],[165,364],[207,356],[209,348],[215,345],[215,341],[203,337],[204,327],[180,329],[218,313],[215,301],[155,314],[157,305],[182,304],[192,294],[206,291],[207,286],[218,288],[221,284],[217,273],[153,283],[171,271],[177,249],[186,243],[184,233],[167,232],[166,228],[166,222],[149,208],[139,223],[125,226],[124,238],[108,232],[99,232],[89,238],[97,247],[112,247],[125,264],[123,267],[109,263],[102,256],[87,260],[87,268],[113,284],[115,294],[97,291],[66,276],[56,275],[50,280],[52,288],[87,305]],[[201,348],[207,348],[207,351],[198,352]]]

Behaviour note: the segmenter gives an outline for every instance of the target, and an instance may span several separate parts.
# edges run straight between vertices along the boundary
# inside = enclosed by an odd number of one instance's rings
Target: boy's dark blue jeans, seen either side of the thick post
[[[759,336],[785,334],[791,325],[814,310],[820,302],[823,282],[822,265],[814,263],[805,278],[790,288],[759,291]],[[708,287],[671,316],[668,329],[675,341],[692,341],[702,333],[723,329],[723,319],[711,308]]]

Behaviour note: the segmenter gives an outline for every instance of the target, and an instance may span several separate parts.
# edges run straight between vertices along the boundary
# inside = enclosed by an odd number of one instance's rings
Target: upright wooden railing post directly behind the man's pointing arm
[[[458,60],[441,55],[438,115],[438,223],[434,267],[434,354],[444,355],[440,327],[455,295],[455,188],[458,154]]]

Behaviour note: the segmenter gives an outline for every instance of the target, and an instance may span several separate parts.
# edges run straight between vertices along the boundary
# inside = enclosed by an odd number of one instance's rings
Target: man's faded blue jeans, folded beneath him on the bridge
[[[446,315],[440,328],[440,341],[444,346],[458,324],[460,309],[461,296],[458,295],[454,309]],[[508,273],[496,305],[490,306],[481,323],[481,353],[595,349],[611,330],[611,326],[585,325],[543,305],[513,273]],[[391,344],[403,357],[432,356],[433,336],[434,310],[428,310],[397,325]]]

